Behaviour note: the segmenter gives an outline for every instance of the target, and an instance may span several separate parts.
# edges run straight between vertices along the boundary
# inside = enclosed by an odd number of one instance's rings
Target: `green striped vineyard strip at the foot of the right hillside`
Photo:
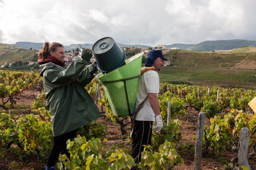
[[[184,67],[164,66],[159,71],[161,81],[183,81]],[[193,68],[185,69],[185,79],[196,85],[256,87],[256,71],[248,69]]]

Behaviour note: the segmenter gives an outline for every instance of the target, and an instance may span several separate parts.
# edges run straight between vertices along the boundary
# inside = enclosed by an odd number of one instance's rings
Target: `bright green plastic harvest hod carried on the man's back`
[[[96,76],[103,86],[113,113],[118,117],[132,115],[134,112],[143,54],[125,60],[125,65],[116,70]]]

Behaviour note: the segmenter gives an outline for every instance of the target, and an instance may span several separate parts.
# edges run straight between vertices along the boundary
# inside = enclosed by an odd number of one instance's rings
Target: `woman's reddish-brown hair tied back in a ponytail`
[[[51,55],[50,52],[56,52],[58,47],[63,47],[62,44],[58,42],[45,42],[43,48],[38,53],[39,60],[44,60],[47,56]],[[64,47],[63,47],[64,48]]]

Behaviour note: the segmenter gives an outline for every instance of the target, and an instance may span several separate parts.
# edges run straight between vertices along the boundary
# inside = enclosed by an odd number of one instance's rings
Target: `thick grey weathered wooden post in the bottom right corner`
[[[249,129],[242,128],[240,131],[240,137],[238,142],[238,164],[240,170],[241,166],[246,166],[249,170],[252,170],[251,166],[248,163],[247,154],[248,154],[248,147],[249,147]]]

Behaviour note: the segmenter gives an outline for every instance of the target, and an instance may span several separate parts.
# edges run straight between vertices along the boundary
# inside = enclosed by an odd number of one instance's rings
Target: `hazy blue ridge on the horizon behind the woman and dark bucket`
[[[137,48],[149,48],[150,46],[146,46],[146,45],[138,45],[138,44],[135,44],[135,45],[129,45],[129,44],[120,44],[120,43],[117,43],[121,48],[123,47],[137,47]],[[22,48],[33,48],[33,49],[40,49],[43,47],[44,43],[36,43],[36,42],[16,42],[15,44],[10,44],[10,45],[14,45],[14,46],[17,46],[17,47],[22,47]],[[71,44],[69,46],[65,46],[64,45],[64,48],[65,50],[72,50],[72,49],[76,49],[76,48],[81,48],[79,45],[82,46],[82,48],[92,48],[93,44]]]

